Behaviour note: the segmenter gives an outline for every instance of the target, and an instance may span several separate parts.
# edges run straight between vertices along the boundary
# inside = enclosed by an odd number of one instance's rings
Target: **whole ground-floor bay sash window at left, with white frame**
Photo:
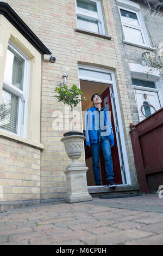
[[[9,42],[5,62],[0,128],[26,136],[29,58]]]

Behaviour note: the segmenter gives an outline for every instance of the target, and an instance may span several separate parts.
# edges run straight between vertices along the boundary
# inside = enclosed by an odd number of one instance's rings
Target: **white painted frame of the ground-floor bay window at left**
[[[12,41],[9,40],[8,45],[14,50],[21,58],[24,59],[23,70],[23,90],[20,90],[16,86],[10,84],[8,81],[3,80],[3,89],[15,94],[18,99],[18,118],[17,118],[17,133],[6,132],[10,134],[16,134],[22,138],[27,138],[27,119],[28,119],[28,93],[29,93],[29,73],[30,73],[30,59],[22,52]],[[0,128],[1,129],[1,128]]]

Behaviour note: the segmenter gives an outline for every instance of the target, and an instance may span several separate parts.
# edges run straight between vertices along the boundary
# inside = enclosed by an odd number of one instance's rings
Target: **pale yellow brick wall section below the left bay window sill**
[[[40,198],[40,150],[0,138],[0,201]]]

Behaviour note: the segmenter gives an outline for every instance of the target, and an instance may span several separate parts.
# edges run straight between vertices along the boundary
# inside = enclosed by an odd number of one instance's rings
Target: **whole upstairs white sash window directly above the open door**
[[[77,27],[105,34],[101,2],[99,0],[77,0]]]

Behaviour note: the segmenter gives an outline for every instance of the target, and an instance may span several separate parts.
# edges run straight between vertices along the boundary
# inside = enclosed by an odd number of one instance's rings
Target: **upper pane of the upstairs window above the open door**
[[[77,0],[77,13],[98,17],[96,2]]]

